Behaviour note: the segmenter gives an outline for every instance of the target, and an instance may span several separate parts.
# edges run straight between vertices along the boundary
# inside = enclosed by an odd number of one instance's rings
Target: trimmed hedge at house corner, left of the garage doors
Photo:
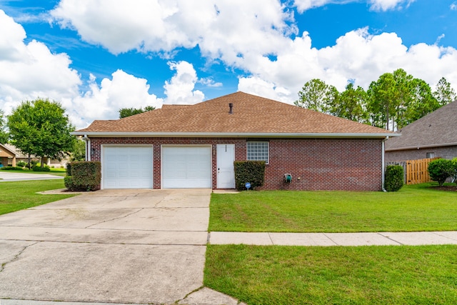
[[[64,183],[70,191],[96,191],[100,189],[101,163],[99,161],[75,161],[67,167]]]

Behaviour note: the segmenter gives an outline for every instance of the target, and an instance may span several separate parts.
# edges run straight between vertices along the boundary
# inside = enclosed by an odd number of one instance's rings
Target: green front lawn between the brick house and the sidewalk
[[[457,230],[457,192],[432,184],[398,192],[243,191],[212,194],[209,231]],[[433,184],[434,185],[434,184]]]

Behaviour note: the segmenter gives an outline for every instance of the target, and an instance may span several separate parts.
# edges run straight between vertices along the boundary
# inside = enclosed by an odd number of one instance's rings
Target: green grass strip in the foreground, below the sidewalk
[[[453,305],[457,246],[209,245],[204,285],[249,305]]]

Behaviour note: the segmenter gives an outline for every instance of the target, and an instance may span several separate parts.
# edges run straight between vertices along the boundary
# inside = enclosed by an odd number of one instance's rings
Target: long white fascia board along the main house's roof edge
[[[331,134],[331,133],[230,133],[230,132],[78,132],[74,136],[116,137],[206,137],[206,138],[386,138],[401,134]]]

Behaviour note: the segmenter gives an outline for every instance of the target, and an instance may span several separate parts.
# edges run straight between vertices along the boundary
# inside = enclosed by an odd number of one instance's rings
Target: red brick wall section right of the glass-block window
[[[381,190],[381,139],[271,139],[269,151],[263,189]]]

